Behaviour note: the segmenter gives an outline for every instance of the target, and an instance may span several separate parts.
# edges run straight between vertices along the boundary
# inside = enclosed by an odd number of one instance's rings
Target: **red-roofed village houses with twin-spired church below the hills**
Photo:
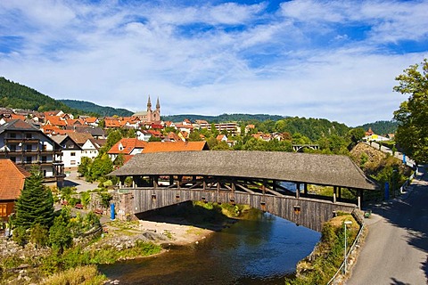
[[[18,198],[23,187],[23,183],[13,179],[25,179],[29,169],[36,165],[43,173],[46,185],[61,187],[67,171],[76,170],[82,158],[95,159],[98,156],[107,141],[106,134],[111,129],[135,130],[135,137],[122,138],[107,151],[112,161],[121,154],[126,163],[137,153],[208,150],[208,143],[202,134],[201,142],[189,142],[189,135],[194,130],[211,130],[211,127],[218,130],[218,142],[226,142],[229,147],[234,146],[233,136],[242,132],[267,142],[291,140],[290,134],[256,132],[254,125],[247,125],[241,130],[241,126],[235,122],[210,124],[206,120],[191,122],[189,119],[182,122],[162,121],[159,99],[152,110],[150,97],[147,110],[131,117],[74,118],[62,110],[42,113],[0,108],[0,217],[11,213],[10,204]],[[157,142],[152,142],[153,137]],[[391,137],[383,138],[370,129],[365,139],[379,141]]]

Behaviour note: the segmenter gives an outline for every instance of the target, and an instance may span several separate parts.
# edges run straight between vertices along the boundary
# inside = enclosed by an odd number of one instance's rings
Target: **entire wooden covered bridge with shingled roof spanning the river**
[[[142,153],[110,175],[119,176],[122,191],[133,191],[134,214],[188,200],[247,204],[318,232],[336,211],[360,208],[363,191],[376,189],[349,157],[295,152]],[[132,185],[125,186],[129,176]],[[333,186],[333,197],[310,194],[309,184]],[[345,201],[342,188],[358,198]]]

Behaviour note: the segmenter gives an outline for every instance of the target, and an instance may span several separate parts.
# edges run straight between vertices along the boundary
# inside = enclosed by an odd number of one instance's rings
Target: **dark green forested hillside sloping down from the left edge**
[[[73,110],[62,102],[4,77],[0,77],[0,107],[37,111],[63,110],[74,114],[79,113],[78,110]]]

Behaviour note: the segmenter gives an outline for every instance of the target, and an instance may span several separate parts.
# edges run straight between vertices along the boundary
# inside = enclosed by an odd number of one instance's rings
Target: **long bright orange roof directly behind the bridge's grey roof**
[[[143,153],[208,150],[207,142],[148,142]]]

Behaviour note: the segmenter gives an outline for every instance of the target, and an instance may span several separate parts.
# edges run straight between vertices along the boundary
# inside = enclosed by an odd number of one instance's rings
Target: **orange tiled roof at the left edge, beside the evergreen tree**
[[[0,159],[0,200],[18,199],[29,172],[10,159]]]

